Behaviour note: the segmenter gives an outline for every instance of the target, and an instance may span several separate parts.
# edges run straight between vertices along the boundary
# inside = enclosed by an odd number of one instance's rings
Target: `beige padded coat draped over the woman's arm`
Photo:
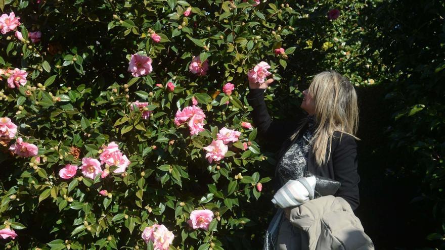
[[[374,244],[362,223],[341,197],[327,195],[291,210],[292,225],[307,232],[310,250],[368,250]]]

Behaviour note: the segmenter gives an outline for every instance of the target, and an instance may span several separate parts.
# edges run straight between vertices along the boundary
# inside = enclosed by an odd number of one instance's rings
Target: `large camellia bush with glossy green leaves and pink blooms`
[[[1,244],[260,245],[270,211],[252,204],[272,159],[245,94],[248,81],[282,78],[301,14],[259,1],[0,9]]]

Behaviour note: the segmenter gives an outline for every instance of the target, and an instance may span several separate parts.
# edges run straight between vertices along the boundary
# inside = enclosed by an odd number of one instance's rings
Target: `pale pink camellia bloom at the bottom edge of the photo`
[[[168,231],[164,225],[153,224],[142,232],[142,239],[148,243],[153,242],[154,250],[168,250],[173,241],[173,232]]]

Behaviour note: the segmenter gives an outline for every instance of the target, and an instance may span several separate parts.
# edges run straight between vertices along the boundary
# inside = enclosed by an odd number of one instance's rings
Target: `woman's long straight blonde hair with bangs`
[[[312,148],[317,164],[323,166],[331,155],[334,131],[341,132],[340,139],[343,133],[358,139],[355,137],[359,123],[357,93],[349,79],[335,71],[324,71],[314,77],[308,94],[315,101],[317,122]]]

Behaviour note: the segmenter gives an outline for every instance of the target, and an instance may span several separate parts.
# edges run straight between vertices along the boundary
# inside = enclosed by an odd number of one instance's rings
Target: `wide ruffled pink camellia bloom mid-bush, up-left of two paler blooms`
[[[186,107],[182,111],[177,110],[174,117],[174,124],[180,126],[181,124],[187,122],[190,119],[188,125],[190,129],[190,134],[198,134],[204,131],[204,112],[197,106]]]

